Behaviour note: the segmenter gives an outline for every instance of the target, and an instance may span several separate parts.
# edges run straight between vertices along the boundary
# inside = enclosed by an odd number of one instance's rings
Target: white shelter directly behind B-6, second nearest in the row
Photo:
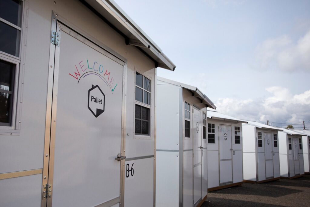
[[[207,195],[206,107],[198,88],[157,77],[156,206],[200,206]]]

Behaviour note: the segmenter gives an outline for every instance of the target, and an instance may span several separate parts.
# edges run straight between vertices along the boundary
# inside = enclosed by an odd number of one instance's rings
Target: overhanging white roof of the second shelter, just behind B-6
[[[190,86],[190,85],[187,85],[184,83],[172,81],[170,79],[166,79],[166,78],[159,77],[159,76],[157,76],[157,80],[185,88],[185,89],[191,91],[193,93],[193,96],[201,99],[202,103],[208,105],[208,107],[210,107],[210,108],[216,109],[216,106],[214,105],[214,103],[195,86]]]

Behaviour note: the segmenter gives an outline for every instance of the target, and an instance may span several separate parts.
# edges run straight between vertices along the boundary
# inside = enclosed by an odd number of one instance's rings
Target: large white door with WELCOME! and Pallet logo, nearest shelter
[[[63,24],[57,31],[48,206],[117,204],[124,63]]]

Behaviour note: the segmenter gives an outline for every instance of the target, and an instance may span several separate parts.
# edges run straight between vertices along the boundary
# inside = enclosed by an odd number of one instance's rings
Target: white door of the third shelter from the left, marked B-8
[[[219,184],[232,182],[232,128],[219,124]]]

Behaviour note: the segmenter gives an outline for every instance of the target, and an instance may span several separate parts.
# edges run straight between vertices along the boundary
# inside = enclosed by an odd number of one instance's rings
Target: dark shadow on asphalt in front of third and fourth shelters
[[[242,186],[225,188],[225,189],[221,189],[217,191],[212,191],[211,193],[267,196],[267,197],[277,198],[277,197],[286,196],[286,195],[298,193],[298,192],[302,192],[302,191],[290,189],[286,187],[280,187],[276,185],[270,185],[270,184],[266,185],[266,184],[242,183]]]

